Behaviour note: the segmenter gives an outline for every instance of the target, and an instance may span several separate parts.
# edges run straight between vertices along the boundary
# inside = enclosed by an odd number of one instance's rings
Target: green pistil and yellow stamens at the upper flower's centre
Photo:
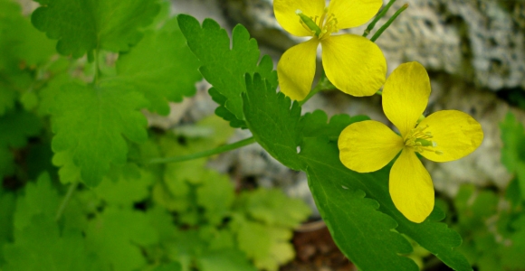
[[[334,14],[328,14],[328,8],[324,9],[322,15],[315,17],[309,17],[299,9],[295,13],[301,18],[299,22],[302,26],[313,35],[316,35],[320,40],[328,38],[331,33],[339,32],[338,19]]]

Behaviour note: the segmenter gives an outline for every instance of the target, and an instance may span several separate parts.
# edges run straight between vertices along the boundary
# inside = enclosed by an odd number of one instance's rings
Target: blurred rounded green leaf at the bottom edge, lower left
[[[146,266],[139,246],[153,245],[158,236],[139,211],[107,208],[90,221],[86,231],[86,246],[97,253],[105,266],[114,271],[135,270]]]

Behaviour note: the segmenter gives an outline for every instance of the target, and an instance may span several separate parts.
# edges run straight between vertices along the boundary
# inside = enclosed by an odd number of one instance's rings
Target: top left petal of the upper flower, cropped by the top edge
[[[284,30],[296,36],[311,36],[311,31],[301,24],[297,10],[309,17],[321,16],[325,7],[324,0],[274,0],[273,12],[275,19]]]

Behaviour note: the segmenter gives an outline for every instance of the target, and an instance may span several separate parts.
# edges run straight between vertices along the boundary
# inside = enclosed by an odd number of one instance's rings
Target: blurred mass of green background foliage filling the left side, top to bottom
[[[205,158],[145,163],[233,131],[217,117],[191,127],[208,131],[198,138],[147,130],[140,109],[167,115],[201,79],[169,4],[41,4],[33,24],[58,43],[0,0],[0,269],[276,270],[291,260],[292,230],[310,214],[302,201],[236,192]]]

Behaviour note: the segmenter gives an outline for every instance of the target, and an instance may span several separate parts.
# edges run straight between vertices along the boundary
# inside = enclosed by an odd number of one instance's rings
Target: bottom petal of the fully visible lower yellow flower
[[[390,170],[390,197],[406,219],[421,223],[434,209],[430,174],[412,149],[405,148]]]

